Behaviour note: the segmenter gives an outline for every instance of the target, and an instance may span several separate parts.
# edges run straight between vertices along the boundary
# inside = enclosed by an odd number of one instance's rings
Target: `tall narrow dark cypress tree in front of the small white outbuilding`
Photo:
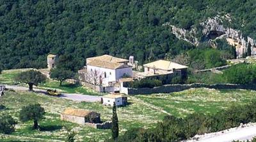
[[[112,116],[112,138],[115,139],[115,141],[118,138],[118,132],[119,132],[119,128],[118,128],[118,118],[117,118],[117,114],[116,114],[116,104],[114,102],[113,105],[113,116]]]

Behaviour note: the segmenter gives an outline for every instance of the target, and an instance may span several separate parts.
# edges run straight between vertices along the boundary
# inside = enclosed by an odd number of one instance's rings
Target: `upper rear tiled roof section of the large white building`
[[[122,59],[122,58],[116,58],[110,55],[102,55],[102,56],[97,56],[97,57],[92,57],[92,58],[87,58],[86,61],[93,61],[93,60],[100,60],[100,61],[110,61],[110,62],[115,62],[115,63],[123,63],[126,61],[129,61],[128,59]]]

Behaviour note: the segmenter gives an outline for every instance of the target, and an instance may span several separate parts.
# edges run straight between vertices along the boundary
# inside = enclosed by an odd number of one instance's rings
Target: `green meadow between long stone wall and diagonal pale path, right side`
[[[196,88],[167,95],[138,95],[136,97],[170,114],[183,117],[188,113],[215,113],[233,104],[245,104],[249,100],[256,99],[256,92]]]

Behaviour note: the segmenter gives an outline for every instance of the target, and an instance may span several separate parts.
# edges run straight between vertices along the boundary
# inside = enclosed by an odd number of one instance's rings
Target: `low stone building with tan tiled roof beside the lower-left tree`
[[[60,115],[61,120],[68,122],[84,124],[84,123],[101,123],[100,114],[94,111],[84,109],[67,108]]]

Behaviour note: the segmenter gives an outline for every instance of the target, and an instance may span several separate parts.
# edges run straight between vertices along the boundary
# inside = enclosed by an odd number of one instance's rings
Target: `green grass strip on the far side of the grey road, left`
[[[2,74],[0,74],[0,84],[17,84],[19,86],[27,86],[27,84],[20,84],[15,81],[15,77],[20,74],[20,72],[24,72],[28,69],[14,69],[14,70],[4,70]],[[90,88],[83,87],[79,84],[70,84],[64,82],[62,86],[59,85],[60,82],[58,81],[52,81],[51,79],[47,79],[46,83],[41,83],[38,86],[34,86],[35,88],[40,89],[56,89],[60,91],[61,93],[81,93],[85,95],[104,95],[103,93],[98,93],[93,91]]]

